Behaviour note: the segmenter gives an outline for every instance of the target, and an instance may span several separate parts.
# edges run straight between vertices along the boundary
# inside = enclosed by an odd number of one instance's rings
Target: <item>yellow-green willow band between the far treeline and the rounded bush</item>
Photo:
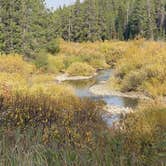
[[[56,56],[45,53],[44,57],[39,53],[36,65],[51,73],[65,72],[73,63],[86,63],[96,70],[107,69],[115,65],[127,47],[125,42],[117,41],[74,43],[61,40],[59,53]]]

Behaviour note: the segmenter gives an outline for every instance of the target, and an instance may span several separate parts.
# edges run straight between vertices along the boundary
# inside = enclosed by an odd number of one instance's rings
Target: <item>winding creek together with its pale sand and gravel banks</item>
[[[108,126],[113,126],[114,123],[119,121],[122,114],[130,113],[137,107],[140,96],[110,92],[105,85],[112,74],[113,70],[107,69],[99,71],[97,75],[89,78],[81,76],[70,78],[61,75],[56,77],[56,80],[59,83],[64,82],[71,85],[80,98],[87,97],[95,101],[104,101],[106,106],[104,108],[105,113],[102,115],[103,120]]]

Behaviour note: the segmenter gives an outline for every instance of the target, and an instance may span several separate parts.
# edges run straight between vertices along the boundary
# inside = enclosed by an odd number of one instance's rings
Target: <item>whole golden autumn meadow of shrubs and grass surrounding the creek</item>
[[[67,43],[35,60],[0,56],[0,165],[156,166],[166,163],[166,45],[144,39]],[[81,66],[81,67],[80,67]],[[85,67],[85,68],[84,68]],[[55,76],[113,68],[122,92],[143,92],[134,113],[108,128],[103,102],[80,99]],[[86,70],[85,70],[86,69]]]

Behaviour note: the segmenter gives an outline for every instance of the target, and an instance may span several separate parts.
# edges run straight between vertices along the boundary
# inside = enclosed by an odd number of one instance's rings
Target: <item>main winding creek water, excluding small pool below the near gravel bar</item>
[[[112,75],[112,70],[100,71],[99,74],[90,80],[77,80],[77,81],[66,81],[74,89],[75,93],[79,97],[89,97],[92,100],[103,100],[108,105],[122,106],[122,107],[135,107],[138,104],[138,99],[118,97],[118,96],[95,96],[89,88],[94,84],[100,83],[101,81],[107,81]]]

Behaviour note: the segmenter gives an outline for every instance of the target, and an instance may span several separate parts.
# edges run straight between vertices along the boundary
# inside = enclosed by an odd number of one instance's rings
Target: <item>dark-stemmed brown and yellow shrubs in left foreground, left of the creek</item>
[[[44,143],[51,138],[75,146],[91,143],[93,132],[102,123],[99,105],[78,99],[62,86],[44,89],[38,85],[14,92],[6,89],[1,93],[0,105],[1,125],[40,128]]]

